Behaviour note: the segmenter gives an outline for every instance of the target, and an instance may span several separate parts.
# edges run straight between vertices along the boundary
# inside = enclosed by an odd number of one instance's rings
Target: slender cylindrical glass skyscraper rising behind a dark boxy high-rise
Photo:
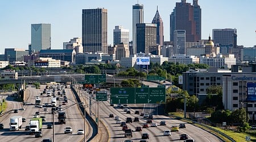
[[[137,23],[143,23],[143,5],[133,5],[133,54],[137,51]]]

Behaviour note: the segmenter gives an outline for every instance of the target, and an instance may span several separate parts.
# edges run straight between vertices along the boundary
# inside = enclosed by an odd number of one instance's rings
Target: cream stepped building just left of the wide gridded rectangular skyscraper
[[[83,53],[82,39],[80,37],[74,37],[70,41],[63,43],[63,49],[75,49],[76,53]]]

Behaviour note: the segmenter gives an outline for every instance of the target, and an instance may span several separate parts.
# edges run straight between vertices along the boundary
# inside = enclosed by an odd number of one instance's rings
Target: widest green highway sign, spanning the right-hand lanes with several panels
[[[110,88],[110,103],[166,103],[165,87]]]

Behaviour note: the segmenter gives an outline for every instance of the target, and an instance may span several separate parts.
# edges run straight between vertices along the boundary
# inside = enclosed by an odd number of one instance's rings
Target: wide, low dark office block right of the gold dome
[[[214,43],[221,46],[237,44],[237,29],[236,28],[224,28],[212,30]]]

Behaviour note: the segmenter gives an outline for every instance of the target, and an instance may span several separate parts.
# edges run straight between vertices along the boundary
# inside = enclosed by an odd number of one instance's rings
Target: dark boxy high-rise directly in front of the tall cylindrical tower
[[[156,47],[156,24],[141,23],[137,26],[137,51],[136,53],[147,53]]]

